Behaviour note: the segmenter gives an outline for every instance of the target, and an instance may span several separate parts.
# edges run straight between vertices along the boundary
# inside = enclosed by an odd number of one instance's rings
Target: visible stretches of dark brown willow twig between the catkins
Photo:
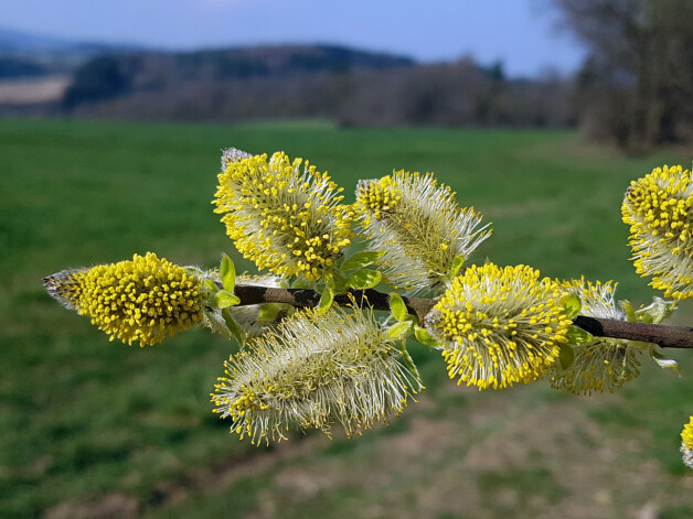
[[[252,284],[237,284],[234,293],[241,299],[241,305],[260,303],[286,303],[296,307],[316,306],[320,301],[320,294],[306,289],[270,289]],[[415,315],[419,324],[424,324],[424,317],[438,302],[435,299],[408,298],[402,299],[409,314]],[[352,304],[370,306],[373,310],[390,310],[390,296],[377,290],[351,290],[346,294],[334,296],[339,305]],[[587,317],[578,315],[574,324],[585,332],[598,337],[622,338],[654,343],[663,348],[691,348],[693,349],[693,328],[683,326],[669,326],[663,324],[629,323],[612,318]]]

